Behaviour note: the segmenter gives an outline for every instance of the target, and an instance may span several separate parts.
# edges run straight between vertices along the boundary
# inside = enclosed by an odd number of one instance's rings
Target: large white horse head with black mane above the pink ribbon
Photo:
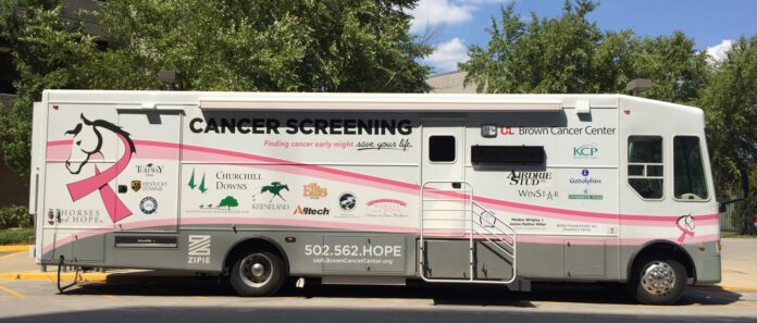
[[[69,160],[65,161],[65,167],[71,174],[76,175],[80,173],[84,165],[89,162],[89,159],[94,154],[102,154],[100,152],[102,149],[102,129],[123,137],[123,139],[128,142],[126,149],[128,149],[129,154],[137,151],[129,134],[124,132],[120,126],[104,120],[89,121],[84,114],[82,114],[80,117],[80,123],[76,124],[73,129],[65,132],[65,135],[74,136],[74,144],[71,146],[71,154],[69,156]]]

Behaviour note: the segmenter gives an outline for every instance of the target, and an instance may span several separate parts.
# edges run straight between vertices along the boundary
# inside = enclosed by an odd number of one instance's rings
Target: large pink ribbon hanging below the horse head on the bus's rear
[[[77,201],[83,197],[88,196],[92,191],[99,190],[100,199],[102,199],[102,203],[106,204],[108,215],[110,215],[113,223],[132,215],[132,211],[115,195],[110,185],[108,185],[108,183],[113,181],[115,176],[119,176],[119,174],[124,171],[128,162],[132,160],[132,151],[129,151],[129,145],[126,137],[119,134],[119,138],[121,139],[121,142],[124,144],[124,156],[122,156],[114,165],[104,172],[100,172],[100,170],[95,166],[95,176],[84,178],[78,182],[69,183],[66,185],[73,201]]]

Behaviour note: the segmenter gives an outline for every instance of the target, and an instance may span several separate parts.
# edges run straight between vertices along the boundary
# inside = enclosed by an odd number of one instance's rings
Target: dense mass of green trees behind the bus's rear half
[[[28,178],[29,108],[44,89],[161,89],[161,70],[176,71],[182,90],[427,90],[417,59],[432,49],[406,13],[415,2],[108,1],[82,13],[97,18],[98,39],[59,18],[61,0],[3,1],[0,37],[20,79],[0,153]]]

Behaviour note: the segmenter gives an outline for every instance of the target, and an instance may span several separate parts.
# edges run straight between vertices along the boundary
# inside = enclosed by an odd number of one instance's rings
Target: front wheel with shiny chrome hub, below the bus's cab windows
[[[641,303],[645,305],[671,305],[677,302],[683,295],[686,288],[686,269],[675,259],[665,258],[647,258],[640,261],[641,265],[634,265],[631,279],[628,283],[628,289],[631,297]],[[654,269],[651,269],[654,266]],[[648,273],[647,276],[647,271]],[[654,275],[654,271],[660,274],[668,273],[667,277],[672,277],[672,282],[662,278],[654,281],[647,277]],[[655,284],[666,282],[663,284]],[[659,287],[659,286],[671,287]]]

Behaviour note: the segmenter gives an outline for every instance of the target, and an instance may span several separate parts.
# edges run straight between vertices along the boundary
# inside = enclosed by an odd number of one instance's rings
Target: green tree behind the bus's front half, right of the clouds
[[[636,77],[653,79],[645,97],[687,102],[698,97],[707,82],[707,55],[694,50],[683,33],[638,38],[631,30],[601,32],[587,14],[597,4],[566,1],[562,14],[529,23],[514,7],[492,18],[491,39],[484,50],[469,49],[466,84],[479,92],[605,94],[624,92]]]

